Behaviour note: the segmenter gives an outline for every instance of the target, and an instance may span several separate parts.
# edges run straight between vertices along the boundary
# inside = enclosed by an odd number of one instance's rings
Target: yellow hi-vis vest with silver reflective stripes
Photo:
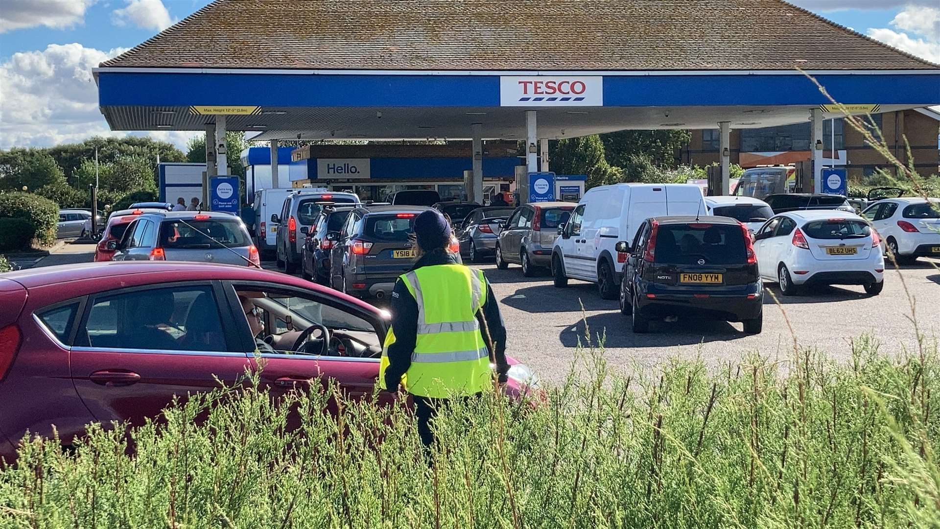
[[[417,336],[411,367],[402,377],[405,391],[427,397],[470,395],[492,387],[490,355],[476,314],[486,302],[482,270],[462,264],[423,266],[400,277],[417,302]],[[379,364],[385,388],[389,329]]]

